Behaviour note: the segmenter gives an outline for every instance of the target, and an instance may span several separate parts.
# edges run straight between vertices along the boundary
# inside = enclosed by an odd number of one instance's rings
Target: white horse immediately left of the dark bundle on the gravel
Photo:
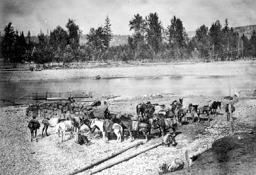
[[[74,138],[74,122],[73,121],[64,121],[64,122],[61,122],[61,123],[58,123],[56,124],[56,133],[58,133],[58,136],[60,136],[60,132],[62,133],[62,142],[63,142],[63,137],[65,139],[65,132],[66,131],[69,131],[70,132],[70,138]]]

